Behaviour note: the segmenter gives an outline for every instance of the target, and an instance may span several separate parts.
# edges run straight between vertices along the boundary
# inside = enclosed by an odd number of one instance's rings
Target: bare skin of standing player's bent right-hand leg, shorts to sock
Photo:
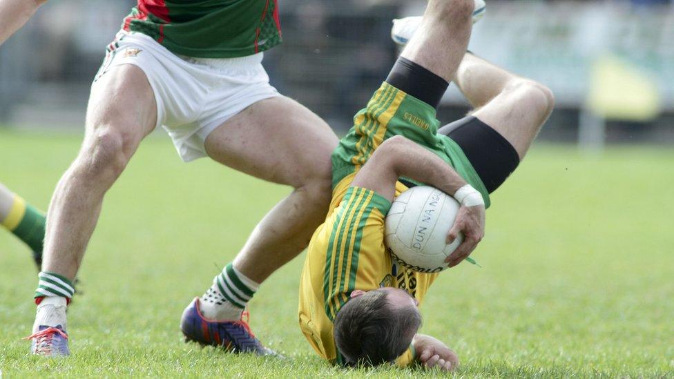
[[[262,282],[305,249],[327,212],[337,142],[320,117],[287,97],[258,101],[209,135],[211,158],[295,188],[253,230],[234,260],[238,271]]]

